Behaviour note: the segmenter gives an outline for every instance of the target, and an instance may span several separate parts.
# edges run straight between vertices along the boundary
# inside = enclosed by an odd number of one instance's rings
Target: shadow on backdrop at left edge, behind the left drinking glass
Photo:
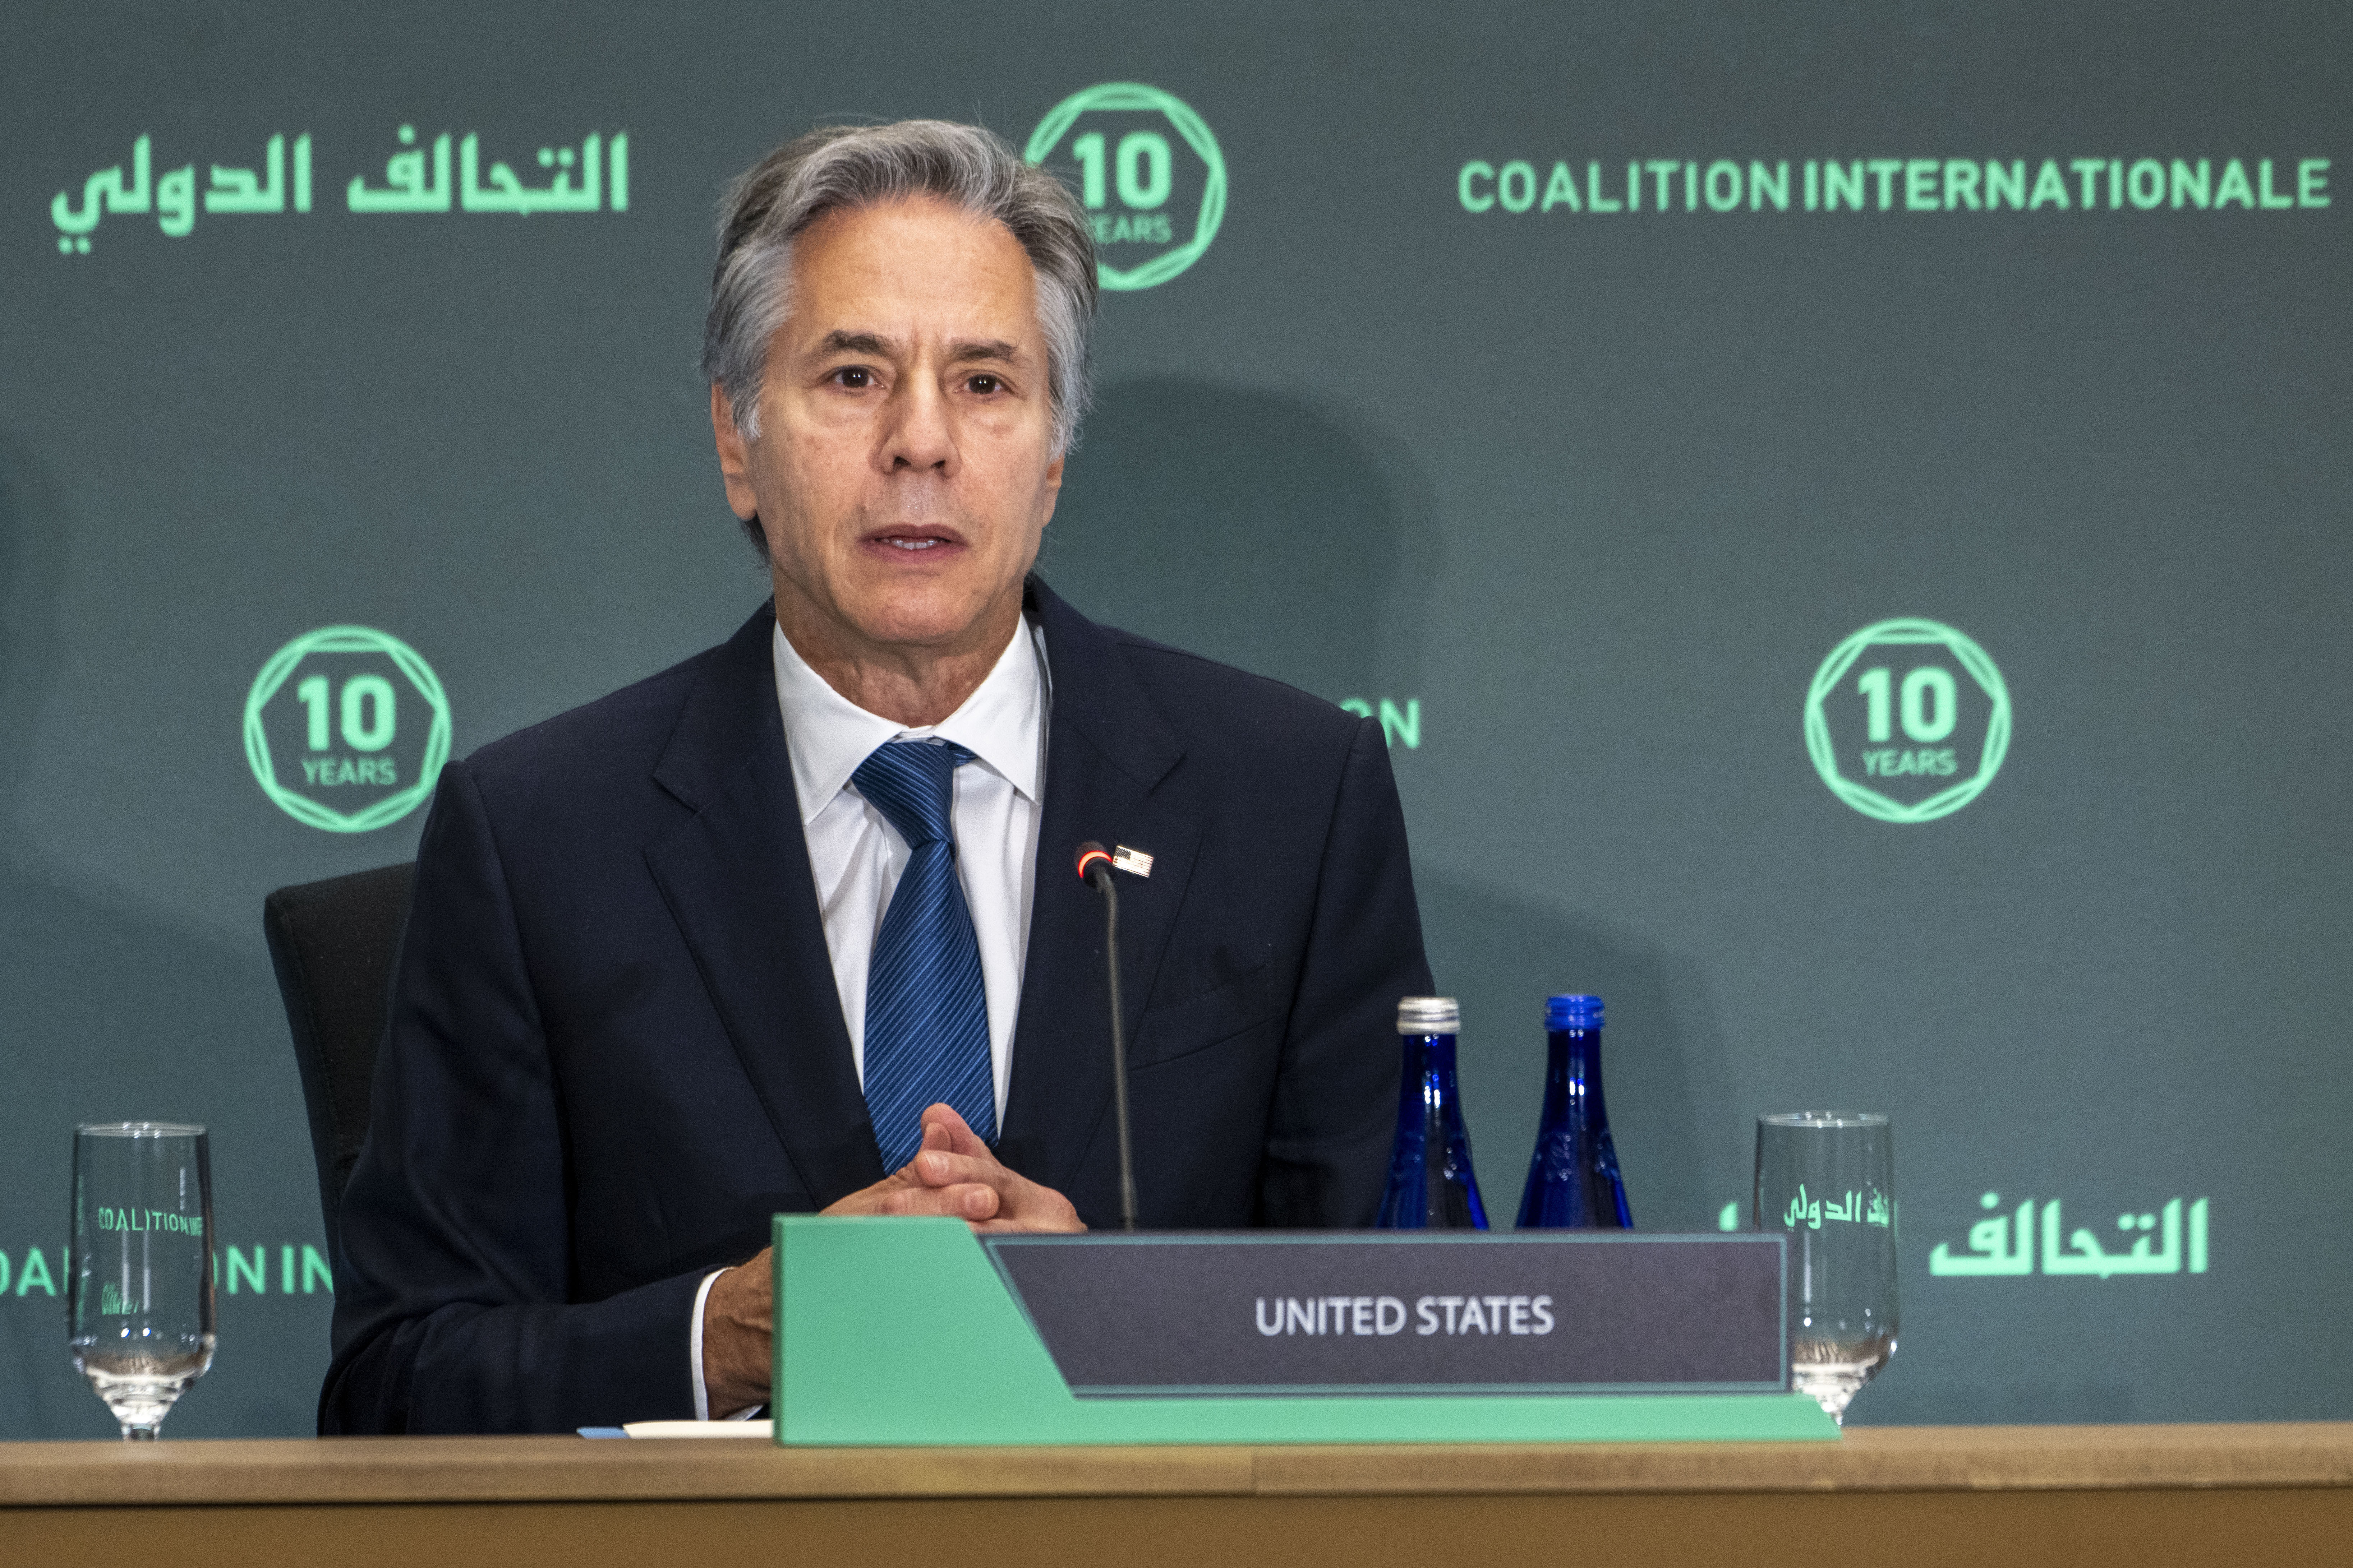
[[[64,665],[66,534],[66,505],[47,470],[0,433],[0,1060],[9,1088],[0,1121],[0,1253],[9,1265],[0,1288],[0,1439],[115,1434],[106,1406],[66,1359],[61,1241],[78,1121],[212,1124],[216,1218],[231,1241],[278,1241],[259,1232],[259,1213],[280,1229],[289,1220],[278,1215],[299,1213],[280,1194],[252,1190],[256,1182],[242,1173],[268,1161],[259,1145],[238,1147],[261,1138],[301,1145],[299,1121],[238,1121],[238,1110],[256,1100],[292,1103],[299,1117],[299,1095],[252,1095],[224,1072],[231,1063],[266,1063],[292,1086],[268,966],[61,886],[19,818],[31,745]],[[186,830],[202,832],[202,823]],[[315,1232],[318,1215],[308,1215],[287,1237]],[[40,1274],[31,1269],[33,1248]],[[165,1432],[308,1434],[325,1363],[318,1302],[224,1295],[219,1361]]]

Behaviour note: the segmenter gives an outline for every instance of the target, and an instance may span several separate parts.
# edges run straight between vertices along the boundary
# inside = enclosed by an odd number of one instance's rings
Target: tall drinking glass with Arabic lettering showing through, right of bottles
[[[1894,1206],[1887,1117],[1758,1117],[1755,1227],[1788,1237],[1791,1385],[1840,1425],[1897,1354]]]

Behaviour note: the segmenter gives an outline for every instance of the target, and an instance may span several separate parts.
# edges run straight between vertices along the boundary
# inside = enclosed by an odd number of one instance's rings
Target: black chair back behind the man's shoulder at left
[[[294,1032],[294,1065],[311,1112],[318,1208],[329,1255],[341,1255],[336,1208],[360,1143],[367,1140],[367,1086],[391,1006],[393,957],[409,919],[416,863],[278,889],[261,900],[278,994]]]

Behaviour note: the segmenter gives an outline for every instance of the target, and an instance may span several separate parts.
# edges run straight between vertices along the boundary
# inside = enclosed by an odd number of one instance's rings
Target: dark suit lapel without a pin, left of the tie
[[[826,950],[762,607],[704,665],[654,780],[694,811],[645,860],[802,1190],[882,1180]]]

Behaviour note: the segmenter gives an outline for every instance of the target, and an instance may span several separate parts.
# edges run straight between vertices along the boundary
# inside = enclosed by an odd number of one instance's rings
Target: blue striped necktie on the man
[[[887,741],[849,776],[908,846],[866,969],[866,1112],[885,1171],[915,1159],[922,1110],[941,1100],[981,1140],[998,1140],[981,943],[948,825],[955,769],[967,762],[962,745]]]

